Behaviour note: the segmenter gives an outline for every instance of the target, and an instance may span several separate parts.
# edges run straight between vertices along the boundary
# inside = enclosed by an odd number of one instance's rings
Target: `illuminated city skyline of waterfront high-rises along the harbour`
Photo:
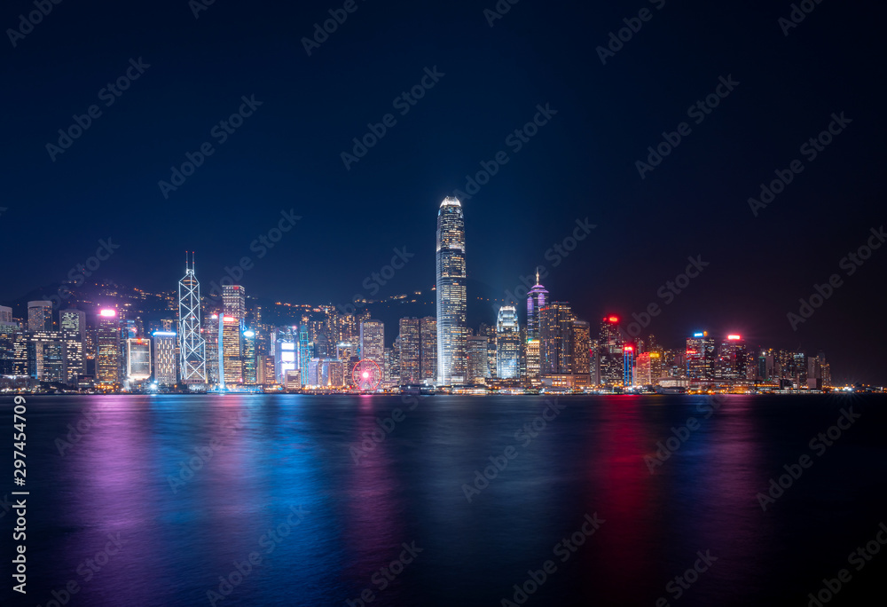
[[[105,284],[91,299],[75,298],[87,310],[56,312],[51,301],[36,300],[20,319],[0,306],[0,388],[683,392],[832,385],[822,352],[776,351],[707,331],[667,349],[654,335],[630,337],[616,315],[593,325],[568,302],[552,300],[538,272],[526,316],[503,305],[494,324],[468,327],[459,200],[441,203],[436,237],[436,314],[401,318],[388,334],[369,311],[333,305],[278,303],[288,321],[274,322],[239,284],[223,281],[220,296],[201,296],[192,258],[177,292],[127,294]],[[145,326],[151,306],[165,318]]]

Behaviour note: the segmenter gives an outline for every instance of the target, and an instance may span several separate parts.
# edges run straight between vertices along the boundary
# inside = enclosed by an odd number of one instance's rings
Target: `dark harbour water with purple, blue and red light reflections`
[[[27,601],[8,582],[2,596],[55,607],[73,580],[67,604],[90,607],[360,605],[364,591],[373,607],[805,606],[847,568],[828,604],[883,604],[887,554],[860,571],[848,555],[887,522],[884,398],[553,403],[28,398]],[[811,444],[851,406],[859,420]],[[68,424],[86,431],[66,444]],[[657,442],[679,448],[658,460]],[[803,455],[763,509],[757,494]]]

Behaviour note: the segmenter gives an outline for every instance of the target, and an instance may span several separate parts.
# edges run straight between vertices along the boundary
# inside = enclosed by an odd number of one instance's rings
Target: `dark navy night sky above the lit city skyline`
[[[885,223],[882,7],[809,0],[789,28],[789,2],[502,0],[495,20],[493,0],[293,4],[217,0],[195,18],[186,0],[66,0],[14,46],[6,30],[0,303],[58,285],[109,238],[119,248],[96,277],[149,290],[176,287],[188,249],[205,286],[250,256],[242,284],[274,300],[428,291],[440,201],[503,152],[463,201],[469,284],[485,296],[541,264],[552,298],[593,326],[659,303],[643,334],[665,345],[740,333],[821,349],[837,379],[883,381],[887,248],[852,275],[842,264]],[[331,10],[347,19],[309,55],[302,39]],[[6,2],[0,24],[20,28],[30,11]],[[598,47],[624,19],[640,30],[603,64]],[[128,69],[126,91],[103,91]],[[423,77],[422,99],[396,100]],[[721,78],[732,90],[721,86],[718,106],[688,115]],[[543,118],[546,104],[556,114]],[[89,128],[48,151],[92,105]],[[241,106],[239,128],[217,128]],[[804,154],[842,113],[830,144]],[[346,169],[341,154],[386,114],[385,134]],[[545,123],[520,141],[534,117]],[[641,178],[636,162],[681,122],[689,133]],[[161,193],[204,142],[212,155]],[[803,172],[756,217],[748,199],[796,159]],[[251,243],[291,209],[301,219],[260,258]],[[554,267],[546,251],[586,218],[596,227]],[[365,278],[395,248],[413,256],[372,294]],[[657,291],[689,256],[709,265],[665,305]],[[793,330],[798,298],[832,274],[841,286]]]

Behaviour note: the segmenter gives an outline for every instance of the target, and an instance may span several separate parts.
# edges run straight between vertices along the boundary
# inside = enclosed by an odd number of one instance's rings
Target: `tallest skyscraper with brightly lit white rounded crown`
[[[456,198],[444,198],[437,211],[437,382],[465,382],[467,325],[465,218]]]

